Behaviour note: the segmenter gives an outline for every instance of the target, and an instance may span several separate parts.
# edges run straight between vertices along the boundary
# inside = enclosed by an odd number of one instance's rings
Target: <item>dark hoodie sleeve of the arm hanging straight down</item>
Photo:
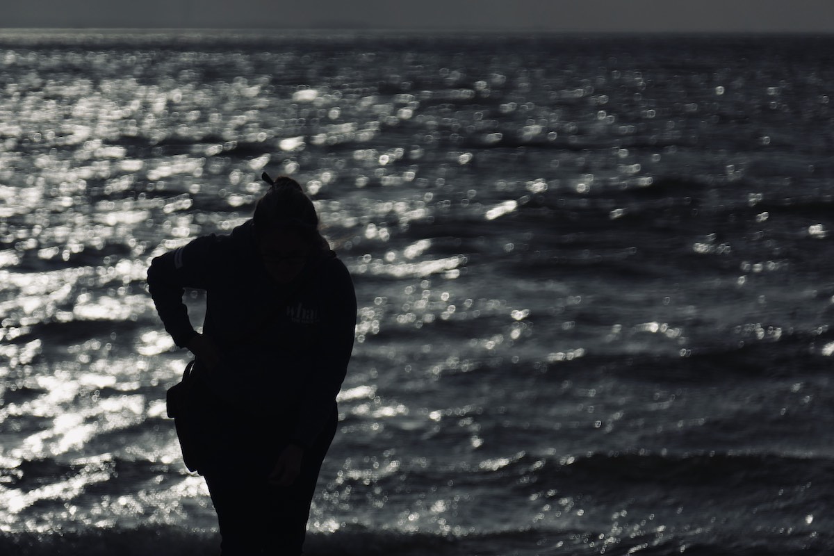
[[[356,293],[344,263],[334,258],[324,272],[322,328],[310,358],[299,420],[291,442],[304,448],[313,445],[334,408],[336,395],[347,373],[356,330]]]

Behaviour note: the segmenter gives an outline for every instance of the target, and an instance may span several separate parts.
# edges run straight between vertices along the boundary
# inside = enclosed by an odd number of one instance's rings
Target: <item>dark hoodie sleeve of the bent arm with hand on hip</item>
[[[165,330],[180,348],[197,333],[188,319],[183,303],[184,288],[208,290],[214,275],[214,251],[219,238],[210,235],[196,238],[188,245],[159,255],[148,268],[148,289]]]

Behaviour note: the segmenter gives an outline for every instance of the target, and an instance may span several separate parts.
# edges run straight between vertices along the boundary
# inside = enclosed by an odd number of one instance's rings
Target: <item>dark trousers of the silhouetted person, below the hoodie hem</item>
[[[316,480],[333,441],[337,419],[334,408],[324,431],[304,451],[301,475],[289,487],[275,487],[267,480],[284,448],[279,438],[274,439],[276,445],[260,453],[243,446],[253,439],[238,438],[244,440],[239,443],[239,453],[217,458],[201,470],[217,511],[222,556],[302,553]],[[255,440],[261,446],[270,441],[263,436]]]

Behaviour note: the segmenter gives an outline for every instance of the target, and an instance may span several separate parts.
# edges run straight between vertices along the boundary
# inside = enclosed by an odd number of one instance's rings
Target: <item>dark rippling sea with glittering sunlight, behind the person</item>
[[[219,553],[146,273],[264,171],[359,300],[306,553],[834,553],[834,36],[106,30],[0,32],[0,553]]]

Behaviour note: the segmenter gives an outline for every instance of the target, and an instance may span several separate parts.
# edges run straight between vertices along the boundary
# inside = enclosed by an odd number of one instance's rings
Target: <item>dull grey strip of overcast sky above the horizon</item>
[[[834,32],[834,0],[7,0],[3,28]]]

